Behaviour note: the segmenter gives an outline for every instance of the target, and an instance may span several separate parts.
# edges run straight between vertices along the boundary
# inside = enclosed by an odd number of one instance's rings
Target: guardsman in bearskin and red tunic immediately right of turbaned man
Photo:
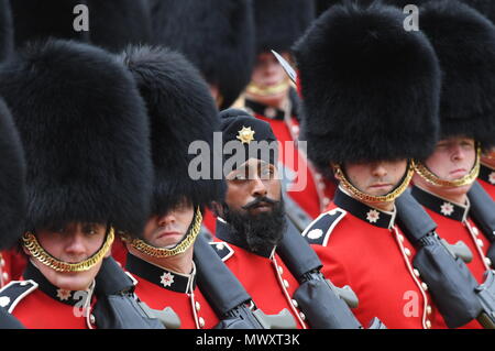
[[[436,143],[440,69],[402,11],[374,3],[334,6],[296,44],[308,157],[339,180],[333,202],[304,232],[337,286],[359,298],[354,315],[387,328],[444,327],[415,250],[396,223],[395,199],[411,158]],[[418,141],[421,142],[418,142]]]

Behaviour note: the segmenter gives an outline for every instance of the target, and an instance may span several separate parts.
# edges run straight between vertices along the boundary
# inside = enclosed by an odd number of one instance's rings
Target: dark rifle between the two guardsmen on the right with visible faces
[[[484,328],[495,328],[495,278],[485,272],[477,284],[462,257],[472,256],[462,242],[449,245],[435,232],[437,224],[405,191],[396,201],[397,222],[417,249],[414,266],[429,286],[431,296],[449,328],[477,319]],[[469,252],[469,253],[468,253]]]

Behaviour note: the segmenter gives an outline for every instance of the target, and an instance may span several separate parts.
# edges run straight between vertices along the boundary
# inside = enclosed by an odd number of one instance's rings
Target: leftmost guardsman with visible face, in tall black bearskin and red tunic
[[[108,326],[109,316],[94,315],[108,282],[95,282],[112,260],[105,257],[114,230],[141,232],[151,198],[144,102],[113,56],[76,42],[28,45],[0,77],[24,149],[29,204],[29,263],[0,292],[3,307],[26,328]]]

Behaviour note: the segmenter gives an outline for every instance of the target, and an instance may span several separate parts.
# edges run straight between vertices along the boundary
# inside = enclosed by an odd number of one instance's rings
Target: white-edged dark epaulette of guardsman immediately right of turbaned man
[[[321,213],[305,229],[301,235],[310,244],[327,246],[332,230],[345,215],[346,212],[340,208]]]

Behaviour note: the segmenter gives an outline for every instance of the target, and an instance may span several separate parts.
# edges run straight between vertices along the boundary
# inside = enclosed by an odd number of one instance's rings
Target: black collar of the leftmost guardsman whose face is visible
[[[62,288],[56,287],[52,283],[46,279],[46,277],[40,272],[37,267],[34,266],[34,264],[29,261],[28,265],[25,267],[25,271],[22,275],[24,279],[33,279],[37,283],[37,288],[52,297],[53,299],[69,305],[75,306],[76,304],[79,304],[84,300],[88,294],[92,293],[92,289],[95,285],[88,290],[81,290],[81,292],[74,292],[74,290],[65,290]]]

